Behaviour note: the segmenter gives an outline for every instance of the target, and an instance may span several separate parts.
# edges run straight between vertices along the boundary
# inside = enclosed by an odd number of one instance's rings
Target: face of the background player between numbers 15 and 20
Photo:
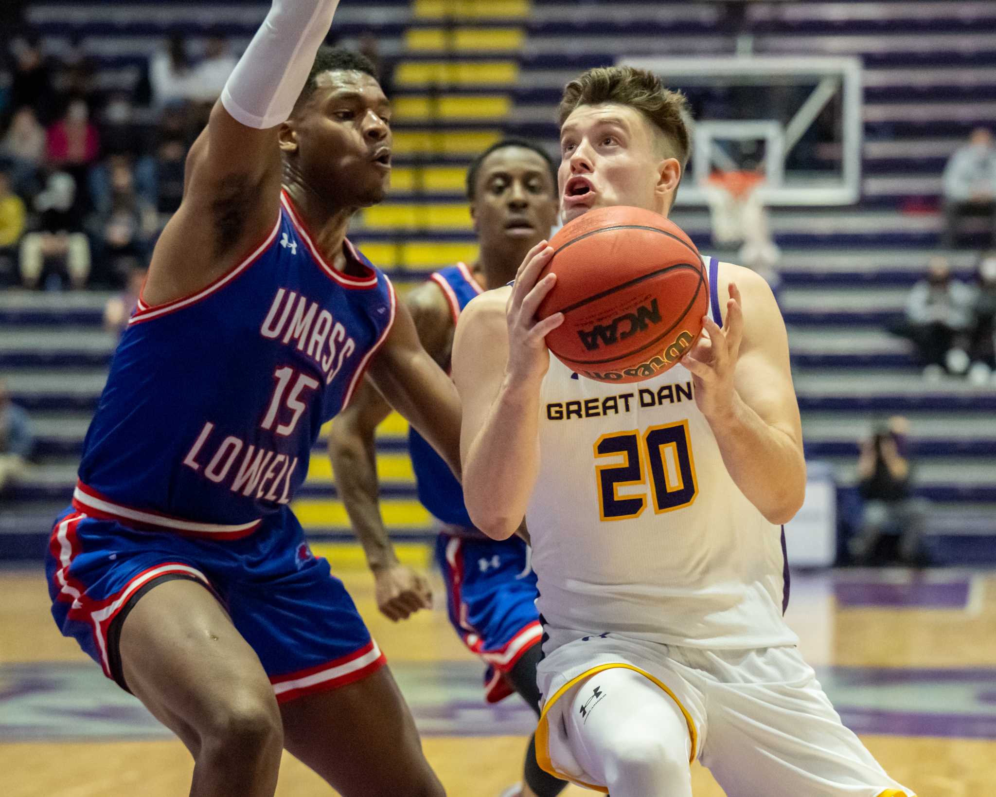
[[[557,219],[557,186],[549,164],[522,146],[496,149],[480,165],[470,212],[482,247],[528,252],[550,235]]]

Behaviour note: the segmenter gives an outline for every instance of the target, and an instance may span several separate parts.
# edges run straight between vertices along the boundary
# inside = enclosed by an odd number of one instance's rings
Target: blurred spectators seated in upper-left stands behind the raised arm
[[[183,165],[236,56],[169,37],[127,88],[82,43],[0,53],[0,286],[125,288],[183,191]],[[375,40],[362,43],[374,63]],[[6,84],[6,86],[5,86]]]

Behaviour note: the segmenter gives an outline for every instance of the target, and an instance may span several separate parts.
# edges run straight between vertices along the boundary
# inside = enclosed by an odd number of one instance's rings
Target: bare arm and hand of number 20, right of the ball
[[[806,459],[785,322],[762,277],[721,269],[729,284],[723,327],[707,318],[681,362],[734,482],[770,522],[787,523],[806,496]]]

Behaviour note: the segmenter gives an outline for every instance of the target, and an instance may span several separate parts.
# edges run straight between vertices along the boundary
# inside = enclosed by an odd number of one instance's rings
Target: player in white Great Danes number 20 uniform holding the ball
[[[683,109],[630,68],[569,84],[565,222],[611,205],[666,215]],[[781,524],[806,464],[768,285],[710,259],[691,351],[645,382],[604,384],[545,345],[563,322],[536,319],[552,253],[541,242],[513,287],[471,302],[453,351],[467,509],[491,537],[523,516],[532,536],[541,766],[612,797],[689,797],[696,758],[737,797],[911,797],[841,723],[782,619]]]

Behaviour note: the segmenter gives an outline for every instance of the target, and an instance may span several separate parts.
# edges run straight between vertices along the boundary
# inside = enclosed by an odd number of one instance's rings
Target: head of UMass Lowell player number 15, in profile
[[[390,185],[390,104],[370,75],[327,72],[316,78],[294,124],[301,175],[331,204],[369,207]]]

